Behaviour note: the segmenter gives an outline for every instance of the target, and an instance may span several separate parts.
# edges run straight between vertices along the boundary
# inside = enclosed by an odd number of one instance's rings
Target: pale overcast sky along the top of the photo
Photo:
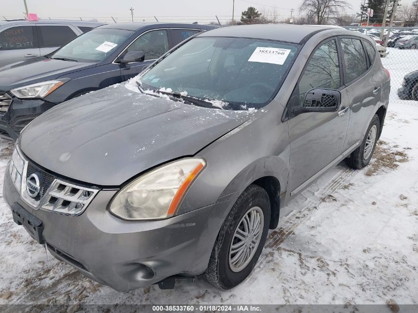
[[[351,8],[345,11],[354,14],[359,10],[362,0],[347,0]],[[0,16],[18,18],[23,16],[23,0],[0,0]],[[276,7],[279,19],[290,15],[290,9],[298,7],[302,0],[235,0],[235,16],[240,16],[241,11],[248,6],[254,6],[258,10],[273,10]],[[411,3],[412,0],[402,0],[401,3]],[[117,17],[119,19],[131,16],[129,10],[134,8],[134,18],[157,16],[160,20],[167,20],[171,16],[194,17],[195,20],[215,18],[231,19],[232,0],[27,0],[29,12],[37,13],[42,18],[78,18],[78,17]],[[293,13],[293,14],[295,14]],[[222,17],[221,17],[222,16]],[[186,18],[185,18],[186,19]],[[176,21],[180,21],[177,18]]]

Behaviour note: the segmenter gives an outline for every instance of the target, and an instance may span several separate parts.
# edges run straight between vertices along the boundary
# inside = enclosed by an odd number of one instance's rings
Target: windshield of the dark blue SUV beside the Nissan
[[[49,55],[53,59],[68,59],[77,62],[99,62],[123,44],[132,31],[99,28],[77,37]]]

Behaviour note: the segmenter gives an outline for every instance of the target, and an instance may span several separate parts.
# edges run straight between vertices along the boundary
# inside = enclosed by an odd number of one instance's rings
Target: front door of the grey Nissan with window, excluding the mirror
[[[302,106],[311,89],[338,89],[341,105],[337,112],[301,113],[288,120],[290,169],[287,191],[290,196],[325,171],[343,152],[350,100],[341,81],[337,42],[331,39],[320,44],[312,54],[293,95],[296,92]]]

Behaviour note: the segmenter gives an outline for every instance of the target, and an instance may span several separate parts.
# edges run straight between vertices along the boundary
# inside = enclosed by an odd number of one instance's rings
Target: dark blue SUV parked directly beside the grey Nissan
[[[0,70],[0,135],[15,140],[34,118],[81,94],[139,74],[171,47],[214,26],[103,25],[53,53]]]

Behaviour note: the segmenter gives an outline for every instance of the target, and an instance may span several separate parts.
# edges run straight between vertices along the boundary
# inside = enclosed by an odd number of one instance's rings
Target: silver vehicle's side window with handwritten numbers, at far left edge
[[[0,33],[0,49],[15,50],[35,47],[33,27],[11,27]]]

